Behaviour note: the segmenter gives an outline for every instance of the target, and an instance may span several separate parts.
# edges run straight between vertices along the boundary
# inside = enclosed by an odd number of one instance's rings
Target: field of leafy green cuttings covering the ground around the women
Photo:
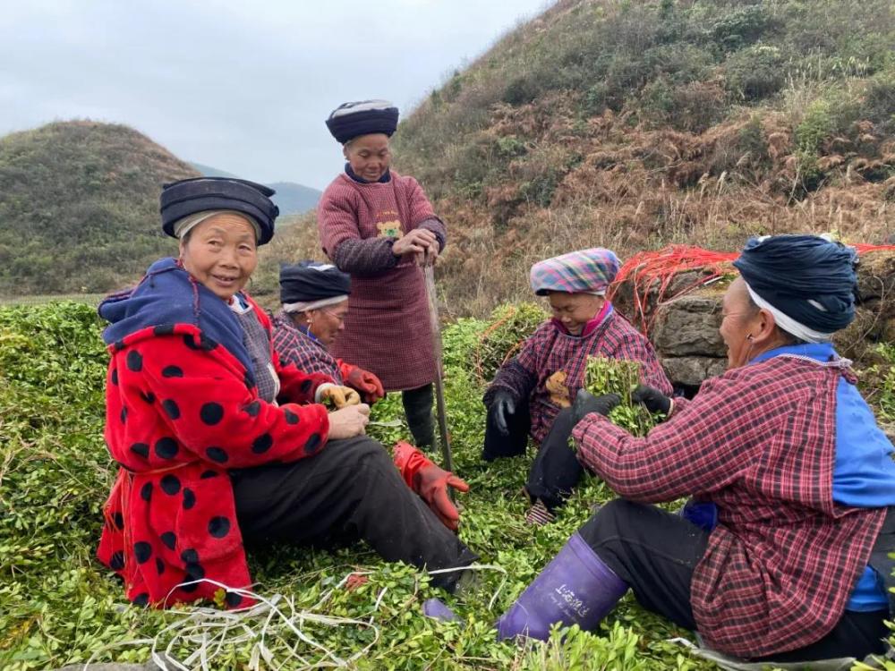
[[[115,476],[103,445],[107,354],[95,310],[81,303],[0,308],[0,668],[11,671],[92,661],[145,662],[153,650],[183,668],[710,669],[675,636],[690,636],[638,607],[630,596],[598,633],[548,644],[495,641],[492,624],[612,493],[590,480],[542,528],[524,523],[519,490],[528,459],[479,459],[484,380],[542,319],[535,306],[505,307],[490,321],[447,327],[445,365],[456,470],[472,490],[461,535],[481,554],[478,582],[448,597],[412,567],[388,565],[368,548],[332,552],[271,547],[249,555],[255,591],[277,601],[257,616],[213,608],[162,612],[132,607],[94,558],[101,506]],[[895,378],[893,378],[895,379]],[[892,380],[890,380],[892,381]],[[371,434],[391,444],[400,401],[374,409]],[[369,582],[345,590],[352,572]],[[275,596],[280,595],[280,596]],[[423,617],[422,601],[443,598],[459,622]],[[278,599],[278,600],[277,600]],[[277,612],[305,611],[291,624]],[[192,655],[192,658],[191,658]],[[168,661],[169,668],[181,668]]]

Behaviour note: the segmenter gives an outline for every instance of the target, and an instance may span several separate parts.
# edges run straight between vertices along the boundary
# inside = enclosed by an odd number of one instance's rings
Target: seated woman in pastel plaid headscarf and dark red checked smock
[[[534,264],[532,289],[548,296],[553,319],[528,337],[485,392],[482,457],[524,454],[529,436],[538,445],[525,485],[533,504],[529,523],[550,522],[584,473],[568,438],[575,426],[571,405],[584,386],[588,357],[637,361],[641,382],[671,393],[650,341],[605,298],[618,266],[618,257],[601,248]]]

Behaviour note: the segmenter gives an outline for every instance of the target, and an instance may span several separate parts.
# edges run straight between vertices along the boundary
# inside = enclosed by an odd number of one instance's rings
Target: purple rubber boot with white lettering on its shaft
[[[592,631],[627,591],[577,533],[498,620],[498,641],[528,636],[546,641],[550,626]]]

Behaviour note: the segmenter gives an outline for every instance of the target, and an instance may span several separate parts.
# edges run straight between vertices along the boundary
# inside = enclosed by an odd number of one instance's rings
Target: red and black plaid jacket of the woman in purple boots
[[[823,638],[865,568],[885,510],[833,503],[839,375],[777,357],[708,381],[647,437],[597,415],[575,427],[579,459],[622,496],[718,505],[691,587],[716,650],[762,656]]]

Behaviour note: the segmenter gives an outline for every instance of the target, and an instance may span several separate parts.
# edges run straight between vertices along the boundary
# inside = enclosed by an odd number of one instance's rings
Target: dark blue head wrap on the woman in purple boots
[[[855,319],[857,254],[816,235],[752,238],[733,262],[746,284],[784,315],[831,334]]]

